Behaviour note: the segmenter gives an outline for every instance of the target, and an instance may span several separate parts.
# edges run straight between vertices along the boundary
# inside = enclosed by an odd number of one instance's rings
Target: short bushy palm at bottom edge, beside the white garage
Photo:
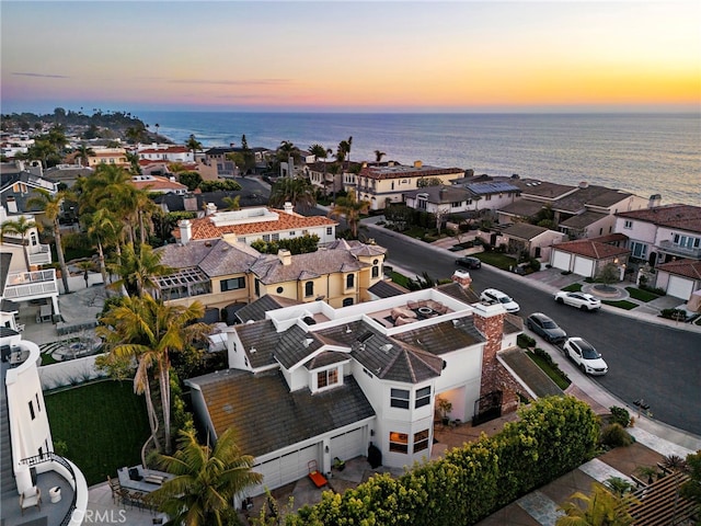
[[[159,464],[175,478],[149,495],[160,504],[172,524],[221,526],[234,496],[258,484],[263,476],[252,471],[254,458],[242,455],[234,430],[225,431],[215,447],[199,444],[194,432],[181,431],[173,456],[159,456]]]

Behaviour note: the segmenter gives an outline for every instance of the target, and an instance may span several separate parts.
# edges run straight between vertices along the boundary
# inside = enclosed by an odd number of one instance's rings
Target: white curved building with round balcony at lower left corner
[[[79,526],[88,508],[88,483],[78,466],[54,450],[37,366],[39,347],[0,327],[0,522]],[[43,506],[33,501],[35,487]]]

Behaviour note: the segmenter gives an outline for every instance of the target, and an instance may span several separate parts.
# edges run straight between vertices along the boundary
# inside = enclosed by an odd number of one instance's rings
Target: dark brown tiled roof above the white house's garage
[[[237,444],[254,457],[375,416],[355,378],[343,381],[312,395],[289,392],[279,371],[227,369],[187,380],[199,386],[216,434],[234,427]]]

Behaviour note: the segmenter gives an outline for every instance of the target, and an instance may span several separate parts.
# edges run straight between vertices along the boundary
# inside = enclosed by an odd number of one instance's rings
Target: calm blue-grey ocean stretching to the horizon
[[[350,160],[404,164],[421,160],[475,174],[519,174],[562,184],[582,181],[660,194],[663,204],[701,206],[701,115],[693,114],[322,114],[141,112],[176,142],[194,134],[205,147],[300,149],[320,144],[334,152],[353,137]]]

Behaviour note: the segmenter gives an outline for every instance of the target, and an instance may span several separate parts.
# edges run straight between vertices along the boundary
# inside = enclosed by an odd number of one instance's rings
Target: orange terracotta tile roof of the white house
[[[302,216],[299,214],[287,214],[284,210],[271,208],[272,213],[278,215],[275,221],[255,221],[242,222],[237,225],[226,225],[217,227],[210,217],[202,217],[199,219],[191,219],[192,238],[191,239],[215,239],[225,235],[234,235],[238,237],[252,236],[260,233],[288,232],[290,230],[306,230],[314,227],[335,227],[338,221],[334,221],[324,216]],[[176,232],[176,237],[180,232]]]

